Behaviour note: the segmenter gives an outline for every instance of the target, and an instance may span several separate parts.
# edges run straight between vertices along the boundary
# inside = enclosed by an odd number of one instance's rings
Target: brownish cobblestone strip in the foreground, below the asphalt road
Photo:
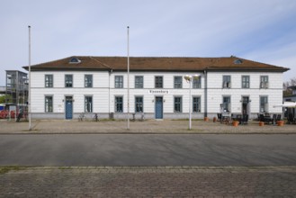
[[[44,166],[22,167],[0,175],[1,198],[295,194],[296,166]]]

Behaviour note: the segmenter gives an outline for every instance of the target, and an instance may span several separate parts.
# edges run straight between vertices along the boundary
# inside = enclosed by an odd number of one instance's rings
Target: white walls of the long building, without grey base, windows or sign
[[[45,88],[44,76],[54,76],[54,87]],[[73,75],[73,87],[65,88],[65,75]],[[85,88],[84,77],[87,74],[93,75],[93,87]],[[203,73],[185,73],[185,72],[130,72],[130,112],[134,112],[135,96],[144,96],[144,112],[155,112],[155,97],[163,96],[164,113],[174,113],[174,96],[182,96],[183,113],[188,113],[189,109],[189,84],[183,78],[183,88],[174,88],[174,76],[200,75],[202,77],[202,88],[192,89],[193,96],[201,96],[202,112],[205,112],[204,105],[204,79]],[[231,76],[231,88],[222,88],[222,76]],[[123,88],[114,88],[114,76],[124,76]],[[144,76],[144,88],[135,89],[135,76]],[[154,89],[155,76],[163,76],[164,87],[157,90],[168,90],[169,94],[149,94],[150,89]],[[241,88],[241,76],[250,76],[250,88]],[[260,76],[269,77],[269,88],[260,89]],[[110,88],[109,88],[110,87]],[[65,95],[73,95],[75,102],[73,110],[75,113],[85,111],[85,95],[93,96],[93,112],[109,113],[114,112],[115,95],[123,96],[124,113],[127,111],[127,75],[126,72],[107,71],[49,71],[49,72],[31,72],[31,112],[44,113],[45,95],[53,95],[54,112],[64,113],[65,106],[63,100]],[[251,112],[259,112],[260,95],[267,95],[270,112],[282,112],[281,108],[273,106],[283,101],[283,74],[282,73],[256,73],[256,72],[209,72],[208,73],[208,112],[220,112],[220,103],[222,96],[231,96],[232,112],[241,112],[242,96],[249,96],[251,102]],[[202,113],[201,112],[201,113]]]

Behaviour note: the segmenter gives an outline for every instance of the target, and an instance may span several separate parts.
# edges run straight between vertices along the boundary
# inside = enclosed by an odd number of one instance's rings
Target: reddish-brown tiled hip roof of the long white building
[[[81,60],[69,63],[72,58]],[[28,70],[28,66],[24,67]],[[46,63],[32,65],[31,70],[127,70],[127,57],[82,57],[73,56]],[[130,71],[203,71],[203,70],[252,70],[279,71],[289,70],[259,63],[244,58],[160,58],[130,57]]]

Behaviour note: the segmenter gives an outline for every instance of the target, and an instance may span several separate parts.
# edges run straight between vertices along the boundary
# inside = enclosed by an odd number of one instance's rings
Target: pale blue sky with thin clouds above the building
[[[296,77],[295,0],[1,0],[5,70],[69,56],[247,58]]]

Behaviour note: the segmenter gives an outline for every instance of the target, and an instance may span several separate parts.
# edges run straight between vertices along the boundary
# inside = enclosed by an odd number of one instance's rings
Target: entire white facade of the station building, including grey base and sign
[[[45,76],[53,76],[52,87],[45,87]],[[65,75],[72,75],[72,87],[65,87]],[[85,87],[85,75],[92,75],[92,87]],[[163,118],[188,118],[189,83],[185,75],[201,76],[201,88],[192,88],[192,97],[199,98],[200,111],[193,112],[193,118],[214,117],[220,112],[223,97],[230,98],[229,111],[242,113],[243,97],[247,98],[247,113],[255,117],[261,110],[260,98],[267,97],[265,112],[281,113],[281,108],[273,106],[283,101],[283,72],[154,72],[130,71],[130,118],[135,112],[135,98],[143,98],[145,118],[155,119],[157,99],[162,99]],[[115,76],[123,76],[123,87],[115,88]],[[143,88],[135,88],[135,76],[143,76]],[[155,87],[156,76],[163,77],[163,87]],[[182,76],[182,88],[175,88],[175,76]],[[231,84],[223,88],[223,76],[230,76]],[[248,88],[242,88],[242,76],[248,76]],[[261,76],[268,76],[268,85],[262,88]],[[72,119],[81,112],[100,119],[125,118],[128,112],[128,76],[121,71],[31,71],[31,115],[34,119],[66,119],[67,96],[72,98]],[[52,97],[51,111],[47,110],[47,96]],[[92,97],[92,111],[85,111],[85,96]],[[122,112],[116,112],[115,97],[122,97]],[[175,112],[175,97],[181,97],[180,112]],[[178,104],[180,105],[180,104]],[[193,100],[192,103],[193,109]],[[246,109],[245,109],[246,110]],[[136,116],[140,116],[141,112]]]

